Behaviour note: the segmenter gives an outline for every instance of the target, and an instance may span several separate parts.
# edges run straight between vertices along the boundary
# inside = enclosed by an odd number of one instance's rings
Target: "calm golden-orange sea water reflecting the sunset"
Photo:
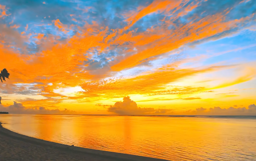
[[[0,115],[12,131],[172,161],[256,161],[256,117]]]

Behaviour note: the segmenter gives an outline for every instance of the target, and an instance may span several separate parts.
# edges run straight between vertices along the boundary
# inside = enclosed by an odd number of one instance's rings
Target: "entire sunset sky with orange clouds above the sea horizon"
[[[256,115],[255,0],[0,0],[0,111]]]

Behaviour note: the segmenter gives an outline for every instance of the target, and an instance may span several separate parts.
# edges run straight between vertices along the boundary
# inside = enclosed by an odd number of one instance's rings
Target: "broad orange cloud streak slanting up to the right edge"
[[[225,14],[216,14],[211,16],[206,16],[200,19],[197,22],[189,23],[183,26],[175,26],[173,23],[174,20],[170,20],[170,25],[174,25],[175,29],[167,29],[166,26],[155,27],[154,32],[161,33],[162,36],[165,37],[163,39],[154,39],[147,38],[155,41],[151,41],[151,44],[148,45],[148,48],[145,50],[138,51],[137,54],[126,57],[124,60],[118,62],[117,64],[111,66],[111,69],[114,71],[121,71],[126,68],[131,68],[136,65],[139,65],[142,60],[147,59],[152,56],[160,55],[171,50],[177,49],[182,45],[203,40],[208,37],[221,34],[224,31],[229,31],[237,27],[237,25],[250,20],[254,15],[247,16],[245,18],[241,18],[239,20],[225,20]],[[176,29],[178,28],[178,29]],[[160,32],[161,31],[161,32]],[[153,32],[153,33],[154,33]],[[166,36],[169,35],[169,36]],[[151,36],[151,35],[150,35]],[[155,36],[155,35],[153,35]],[[138,39],[132,39],[135,41],[135,45],[139,43],[139,45],[146,44],[143,42],[144,39],[138,37]]]

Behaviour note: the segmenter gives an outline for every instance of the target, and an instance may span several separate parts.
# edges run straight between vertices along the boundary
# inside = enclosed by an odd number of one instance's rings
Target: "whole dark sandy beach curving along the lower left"
[[[0,122],[1,124],[1,122]],[[58,144],[5,129],[0,125],[1,161],[166,161],[150,157]]]

